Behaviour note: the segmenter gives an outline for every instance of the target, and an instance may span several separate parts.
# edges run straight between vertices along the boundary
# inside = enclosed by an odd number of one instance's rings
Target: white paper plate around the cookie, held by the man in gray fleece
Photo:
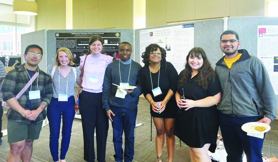
[[[255,129],[256,126],[265,127],[266,130],[260,132],[259,130]],[[259,134],[259,133],[265,133],[265,132],[269,131],[270,126],[266,123],[249,122],[249,123],[245,123],[244,125],[242,125],[241,129],[247,133]]]

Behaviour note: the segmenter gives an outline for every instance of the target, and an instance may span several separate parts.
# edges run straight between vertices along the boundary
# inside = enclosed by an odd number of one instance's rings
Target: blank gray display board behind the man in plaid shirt
[[[30,44],[37,44],[42,47],[43,56],[42,60],[39,63],[39,67],[42,71],[46,72],[46,62],[47,62],[47,48],[46,48],[46,29],[39,30],[36,32],[26,33],[21,35],[21,63],[25,63],[25,59],[23,57],[24,51],[27,46]]]

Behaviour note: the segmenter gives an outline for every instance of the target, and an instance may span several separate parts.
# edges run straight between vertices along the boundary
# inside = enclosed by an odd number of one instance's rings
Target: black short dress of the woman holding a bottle
[[[182,75],[183,71],[180,72],[179,78]],[[192,79],[191,75],[188,76],[186,83],[182,87],[178,87],[177,92],[181,93],[181,88],[183,88],[186,99],[200,100],[208,96],[214,96],[222,91],[217,76],[214,82],[210,81],[208,83],[207,89],[198,85],[198,82],[196,82],[197,77],[198,74]],[[194,107],[186,111],[179,108],[177,110],[174,135],[189,147],[202,148],[206,143],[210,143],[209,151],[215,152],[218,128],[216,105],[208,108]]]

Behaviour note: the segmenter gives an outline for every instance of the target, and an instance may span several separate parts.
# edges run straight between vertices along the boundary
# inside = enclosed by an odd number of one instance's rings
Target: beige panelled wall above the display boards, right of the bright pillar
[[[264,16],[264,0],[146,0],[146,27],[226,16]]]

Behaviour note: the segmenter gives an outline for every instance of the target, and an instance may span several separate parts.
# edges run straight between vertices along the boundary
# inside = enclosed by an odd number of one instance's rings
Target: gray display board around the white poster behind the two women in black
[[[223,57],[223,53],[219,47],[220,35],[223,32],[223,19],[190,22],[190,23],[186,23],[186,24],[192,24],[192,23],[194,24],[194,47],[201,47],[204,49],[212,67],[214,68],[216,62],[221,57]],[[140,36],[139,36],[140,30],[155,29],[155,28],[177,26],[177,25],[183,25],[183,24],[136,29],[135,30],[135,60],[136,60],[136,62],[140,61],[140,57],[142,55],[142,53],[140,53]],[[185,53],[185,55],[187,55],[187,54],[188,53]],[[166,57],[166,60],[167,60],[167,57]]]

